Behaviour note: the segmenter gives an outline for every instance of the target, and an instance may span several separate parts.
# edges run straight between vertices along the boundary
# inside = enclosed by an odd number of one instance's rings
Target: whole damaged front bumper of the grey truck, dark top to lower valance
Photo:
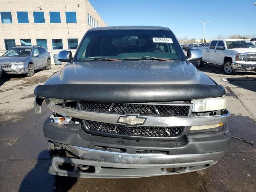
[[[225,122],[228,116],[207,118]],[[179,140],[136,140],[91,135],[79,124],[60,125],[48,120],[44,136],[76,156],[54,157],[49,173],[86,178],[136,178],[201,170],[218,162],[230,144],[227,123],[224,130],[189,132]]]

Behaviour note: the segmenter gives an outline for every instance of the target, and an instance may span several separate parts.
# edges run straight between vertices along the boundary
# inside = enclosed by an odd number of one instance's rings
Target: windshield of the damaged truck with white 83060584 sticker
[[[96,30],[87,32],[75,60],[95,57],[124,60],[143,56],[186,59],[170,30]]]

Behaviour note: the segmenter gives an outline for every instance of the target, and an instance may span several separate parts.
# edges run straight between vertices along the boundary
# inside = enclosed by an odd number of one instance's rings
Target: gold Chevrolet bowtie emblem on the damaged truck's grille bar
[[[125,124],[128,127],[138,127],[138,125],[143,125],[146,118],[140,118],[138,115],[125,115],[120,116],[117,123]]]

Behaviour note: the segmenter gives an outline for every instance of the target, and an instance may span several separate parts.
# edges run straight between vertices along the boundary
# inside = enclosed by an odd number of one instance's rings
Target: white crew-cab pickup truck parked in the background
[[[256,70],[256,45],[244,39],[212,40],[208,48],[198,48],[203,58],[197,62],[201,67],[205,63],[222,66],[225,74]]]

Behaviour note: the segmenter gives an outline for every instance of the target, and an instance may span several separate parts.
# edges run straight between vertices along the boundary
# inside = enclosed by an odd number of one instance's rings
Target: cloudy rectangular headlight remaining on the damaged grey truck
[[[207,99],[193,99],[192,112],[206,112],[225,109],[227,106],[226,96],[207,98]]]

